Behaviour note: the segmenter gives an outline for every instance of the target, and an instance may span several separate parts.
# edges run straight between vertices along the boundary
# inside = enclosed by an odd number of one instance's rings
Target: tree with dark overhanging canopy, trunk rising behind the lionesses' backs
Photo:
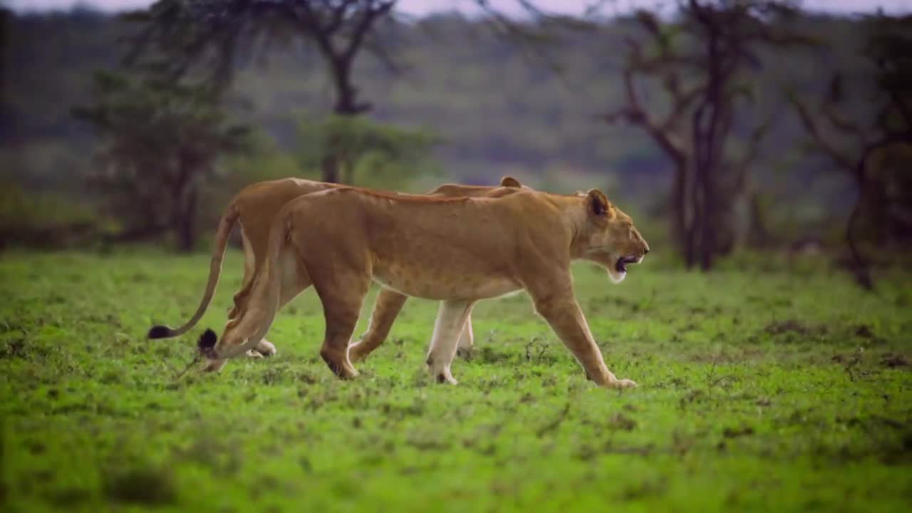
[[[333,113],[354,117],[371,109],[355,86],[355,61],[368,49],[392,66],[376,32],[392,20],[395,5],[396,0],[160,0],[130,16],[142,29],[127,60],[152,57],[172,78],[204,68],[205,83],[217,94],[230,85],[245,55],[303,41],[326,64],[336,97]],[[326,152],[323,180],[338,182],[340,165],[335,153]]]

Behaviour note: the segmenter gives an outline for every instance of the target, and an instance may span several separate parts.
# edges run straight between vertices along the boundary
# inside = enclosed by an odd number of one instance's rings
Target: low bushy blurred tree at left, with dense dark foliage
[[[220,155],[247,149],[249,129],[229,123],[200,87],[99,72],[95,89],[96,101],[73,114],[101,139],[90,181],[124,225],[113,238],[173,232],[178,248],[191,250],[202,185]]]

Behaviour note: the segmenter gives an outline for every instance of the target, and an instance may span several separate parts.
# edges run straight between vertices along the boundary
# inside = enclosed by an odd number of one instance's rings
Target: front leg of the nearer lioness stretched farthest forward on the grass
[[[606,388],[631,388],[637,386],[630,380],[618,380],[610,371],[598,351],[596,340],[586,324],[583,310],[579,308],[573,294],[573,285],[568,279],[559,285],[530,289],[535,311],[539,313],[564,345],[573,352],[576,361],[586,370],[586,376],[599,386]]]

